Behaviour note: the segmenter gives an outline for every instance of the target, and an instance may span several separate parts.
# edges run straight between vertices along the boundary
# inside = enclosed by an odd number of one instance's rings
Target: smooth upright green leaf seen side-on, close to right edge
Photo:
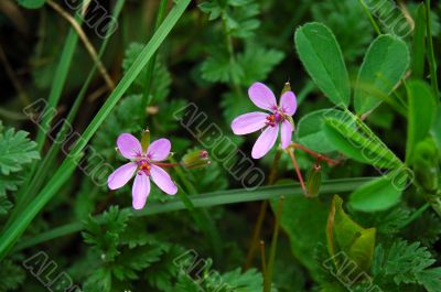
[[[431,88],[423,82],[411,80],[407,84],[408,127],[406,161],[412,158],[417,143],[424,140],[437,115],[437,101]]]

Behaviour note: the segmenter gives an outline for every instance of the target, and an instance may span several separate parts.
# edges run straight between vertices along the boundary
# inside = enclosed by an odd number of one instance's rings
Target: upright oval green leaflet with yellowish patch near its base
[[[378,36],[358,72],[354,93],[356,112],[362,115],[378,107],[405,75],[409,62],[409,50],[401,39]]]

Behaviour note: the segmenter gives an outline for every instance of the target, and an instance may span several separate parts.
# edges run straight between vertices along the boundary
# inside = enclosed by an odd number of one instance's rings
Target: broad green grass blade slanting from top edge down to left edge
[[[141,53],[133,62],[132,66],[128,69],[126,75],[119,82],[117,87],[108,97],[107,101],[103,105],[100,110],[97,112],[95,118],[88,125],[82,137],[75,143],[74,149],[69,152],[68,156],[64,160],[60,169],[54,173],[52,180],[46,184],[45,187],[35,196],[35,198],[26,206],[23,210],[26,217],[20,216],[18,217],[9,228],[0,236],[0,260],[3,259],[9,249],[13,246],[13,244],[19,239],[19,237],[28,228],[32,219],[37,215],[37,213],[44,207],[45,203],[50,202],[51,198],[58,192],[58,190],[63,186],[63,184],[69,179],[69,176],[65,175],[66,169],[71,165],[76,165],[75,159],[79,156],[88,141],[95,134],[97,129],[101,126],[104,120],[117,105],[119,99],[126,93],[126,90],[130,87],[133,80],[137,78],[139,73],[146,66],[146,64],[150,61],[154,52],[164,41],[170,31],[174,28],[178,20],[184,13],[185,9],[190,4],[191,0],[180,0],[172,11],[170,11],[169,15],[161,24],[159,30],[154,33],[153,37],[150,42],[142,48]],[[55,187],[54,187],[55,186]],[[44,204],[41,204],[41,203]],[[36,204],[40,203],[40,204]],[[36,206],[36,207],[35,207]],[[34,212],[36,209],[36,212]],[[24,219],[26,218],[26,219]]]

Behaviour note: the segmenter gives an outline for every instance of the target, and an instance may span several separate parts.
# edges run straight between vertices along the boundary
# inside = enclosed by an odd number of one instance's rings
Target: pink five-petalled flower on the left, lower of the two
[[[118,167],[107,180],[110,190],[122,187],[136,174],[132,187],[132,205],[135,209],[141,209],[146,205],[150,193],[150,177],[169,195],[178,192],[176,185],[170,175],[157,162],[165,160],[170,154],[171,143],[168,139],[153,141],[146,153],[137,138],[129,133],[118,137],[117,145],[122,156],[131,162]]]

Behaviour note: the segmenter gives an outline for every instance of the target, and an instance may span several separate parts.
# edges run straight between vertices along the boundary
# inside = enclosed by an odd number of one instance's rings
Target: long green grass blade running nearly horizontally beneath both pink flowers
[[[323,182],[321,186],[322,194],[335,194],[344,192],[353,192],[362,185],[372,182],[376,177],[357,177],[347,180],[333,180]],[[277,194],[277,195],[276,195]],[[227,204],[248,203],[256,201],[268,201],[271,198],[292,196],[303,196],[303,191],[299,184],[287,184],[276,186],[263,186],[254,191],[246,190],[228,190],[214,193],[198,194],[189,196],[187,198],[192,202],[194,208],[205,208],[222,206]],[[127,208],[131,209],[131,208]],[[181,199],[172,199],[166,203],[151,203],[148,208],[140,212],[133,213],[133,216],[152,216],[163,213],[170,213],[175,210],[187,209],[185,204]],[[95,216],[98,221],[101,215]],[[83,230],[83,224],[80,221],[71,223],[63,225],[46,232],[39,234],[31,238],[23,238],[15,247],[14,251],[22,250],[29,247],[36,246],[39,244],[53,240],[55,238],[67,236],[71,234],[79,232]]]

